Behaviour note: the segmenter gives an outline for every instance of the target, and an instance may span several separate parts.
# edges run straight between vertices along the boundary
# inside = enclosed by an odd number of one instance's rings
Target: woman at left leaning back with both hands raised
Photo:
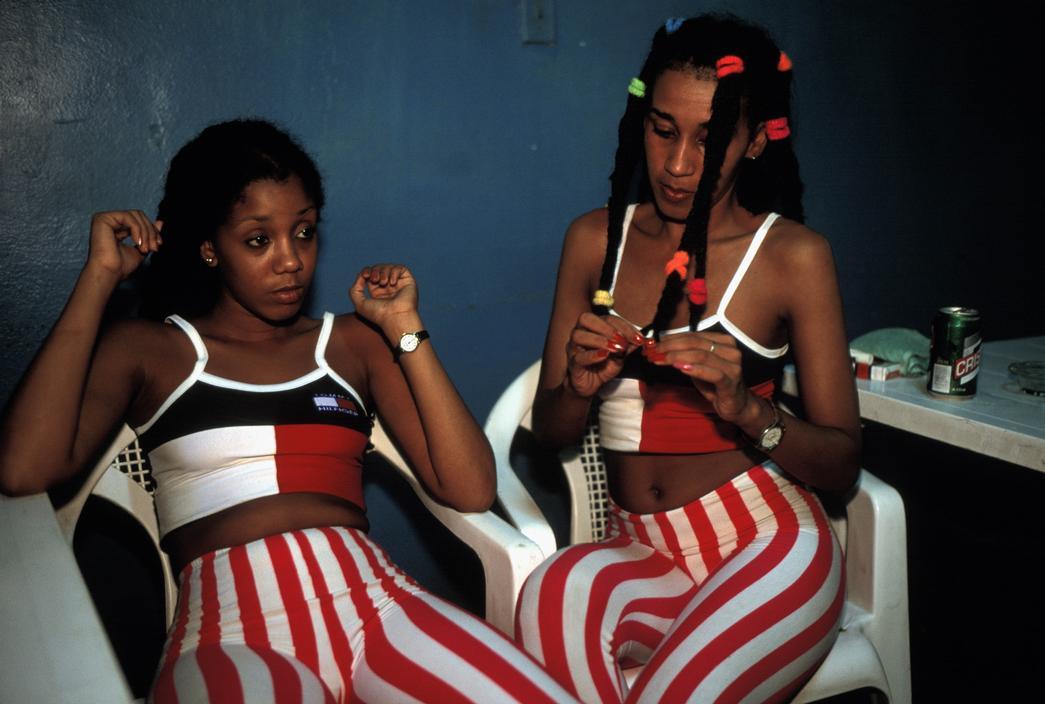
[[[136,428],[180,570],[152,701],[570,700],[367,538],[372,413],[459,510],[490,506],[492,457],[416,334],[404,266],[363,268],[354,315],[303,314],[322,209],[311,159],[273,125],[242,120],[178,152],[157,222],[138,210],[94,215],[87,264],[2,427],[3,491],[43,491],[118,423]],[[167,324],[99,333],[115,286],[149,254],[145,316]]]

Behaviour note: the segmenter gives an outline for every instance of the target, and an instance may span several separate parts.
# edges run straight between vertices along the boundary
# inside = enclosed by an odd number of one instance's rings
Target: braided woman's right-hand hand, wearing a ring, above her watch
[[[744,384],[740,349],[723,332],[683,332],[666,335],[651,346],[647,358],[671,366],[693,381],[700,395],[724,421],[737,422],[754,398]]]

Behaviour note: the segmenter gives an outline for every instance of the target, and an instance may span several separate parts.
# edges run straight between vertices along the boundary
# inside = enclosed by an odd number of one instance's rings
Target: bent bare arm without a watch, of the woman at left
[[[130,237],[135,247],[120,240]],[[131,339],[98,341],[113,289],[160,243],[141,211],[97,213],[91,250],[62,315],[13,395],[0,424],[0,490],[44,491],[79,470],[123,417],[140,373]]]

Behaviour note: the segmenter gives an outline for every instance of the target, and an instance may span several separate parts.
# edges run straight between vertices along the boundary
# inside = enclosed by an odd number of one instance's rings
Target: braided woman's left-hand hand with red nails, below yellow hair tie
[[[578,396],[590,398],[624,367],[624,358],[645,338],[616,315],[581,313],[566,344],[566,384]]]

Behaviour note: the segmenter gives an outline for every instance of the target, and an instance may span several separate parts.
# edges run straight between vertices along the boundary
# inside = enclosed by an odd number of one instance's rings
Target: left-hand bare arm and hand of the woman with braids
[[[594,211],[570,226],[562,245],[533,404],[534,435],[549,447],[580,439],[593,397],[620,374],[624,357],[641,344],[636,331],[621,319],[590,312],[605,233],[605,211]]]

